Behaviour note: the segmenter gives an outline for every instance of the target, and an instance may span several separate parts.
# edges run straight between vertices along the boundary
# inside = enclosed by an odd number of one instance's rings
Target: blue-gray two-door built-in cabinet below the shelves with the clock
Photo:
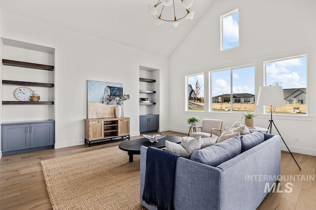
[[[35,120],[1,123],[2,155],[54,148],[55,121]]]

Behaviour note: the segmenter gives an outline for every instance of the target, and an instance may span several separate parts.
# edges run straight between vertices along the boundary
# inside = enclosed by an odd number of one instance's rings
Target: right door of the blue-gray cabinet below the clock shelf
[[[54,122],[30,124],[31,148],[54,145]]]

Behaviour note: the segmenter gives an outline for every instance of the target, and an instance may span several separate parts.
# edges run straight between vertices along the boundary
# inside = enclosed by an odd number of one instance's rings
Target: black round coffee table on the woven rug
[[[181,139],[182,138],[179,136],[165,136],[159,139],[158,142],[151,143],[148,139],[141,138],[122,142],[118,145],[118,148],[127,151],[127,154],[129,155],[129,162],[133,162],[133,155],[140,154],[140,146],[164,148],[166,140],[178,144],[181,143]]]

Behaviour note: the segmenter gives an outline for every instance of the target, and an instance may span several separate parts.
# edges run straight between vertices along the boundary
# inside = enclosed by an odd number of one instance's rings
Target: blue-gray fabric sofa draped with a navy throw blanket
[[[245,151],[241,150],[237,156],[216,167],[179,157],[173,190],[175,210],[255,210],[268,194],[267,185],[271,187],[280,175],[280,137],[263,135],[262,143]],[[242,138],[234,137],[231,141],[226,141],[227,144],[235,144],[237,141],[242,143]],[[142,200],[146,152],[147,147],[142,146],[140,203],[148,210],[154,210],[157,208]],[[191,158],[198,159],[204,155],[203,152],[195,152],[197,154],[194,153]]]

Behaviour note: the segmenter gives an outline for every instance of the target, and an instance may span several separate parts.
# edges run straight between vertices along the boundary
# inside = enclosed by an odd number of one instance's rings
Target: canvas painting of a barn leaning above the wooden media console
[[[108,101],[108,97],[116,97],[117,94],[123,95],[122,83],[87,80],[88,119],[115,117],[117,101]],[[124,116],[123,101],[119,103],[121,116]]]

